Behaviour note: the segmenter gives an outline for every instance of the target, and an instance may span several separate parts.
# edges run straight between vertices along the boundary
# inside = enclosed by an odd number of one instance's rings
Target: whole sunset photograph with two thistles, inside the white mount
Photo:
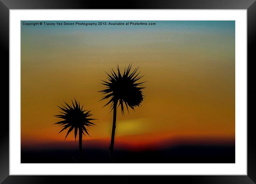
[[[235,163],[235,21],[20,21],[21,163]]]

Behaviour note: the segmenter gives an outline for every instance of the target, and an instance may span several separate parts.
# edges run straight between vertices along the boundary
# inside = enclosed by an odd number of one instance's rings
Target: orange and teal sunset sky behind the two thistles
[[[57,105],[74,98],[98,119],[84,144],[107,147],[113,113],[110,106],[102,108],[107,101],[99,101],[97,91],[104,89],[105,71],[130,63],[145,75],[145,99],[135,112],[122,116],[118,109],[117,146],[234,141],[235,21],[143,22],[156,25],[25,26],[21,21],[22,147],[78,145],[73,132],[64,141],[66,132],[58,135],[60,127],[53,125],[59,121],[53,117],[60,114]]]

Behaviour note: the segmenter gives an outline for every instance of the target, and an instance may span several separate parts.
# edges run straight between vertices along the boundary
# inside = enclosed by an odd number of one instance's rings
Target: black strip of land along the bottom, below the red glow
[[[109,163],[109,151],[83,149],[84,163]],[[77,163],[78,149],[21,149],[21,163]],[[235,163],[235,146],[183,145],[156,151],[114,150],[115,163]]]

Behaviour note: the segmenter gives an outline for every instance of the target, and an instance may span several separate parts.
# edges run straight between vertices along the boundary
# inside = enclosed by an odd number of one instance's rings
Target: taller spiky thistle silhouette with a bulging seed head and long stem
[[[110,162],[112,163],[114,156],[114,138],[117,119],[117,108],[121,106],[121,112],[123,115],[124,105],[127,107],[127,111],[129,112],[128,106],[132,110],[134,110],[134,108],[140,106],[141,102],[144,100],[144,95],[142,92],[142,89],[144,88],[141,87],[141,85],[143,85],[143,83],[145,82],[136,83],[144,75],[139,76],[140,72],[137,73],[138,68],[134,69],[133,72],[131,72],[131,67],[132,65],[129,64],[127,68],[124,68],[123,75],[121,75],[118,65],[117,73],[115,73],[113,69],[112,71],[110,70],[111,75],[106,72],[108,75],[108,82],[102,80],[104,83],[101,83],[106,86],[106,89],[98,91],[104,94],[101,100],[110,99],[107,104],[104,105],[104,107],[108,104],[111,104],[111,111],[113,110],[112,134],[109,145]]]

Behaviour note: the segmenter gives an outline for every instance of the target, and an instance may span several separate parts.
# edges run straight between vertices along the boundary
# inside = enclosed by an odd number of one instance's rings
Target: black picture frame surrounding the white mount
[[[188,176],[21,176],[9,175],[9,10],[10,9],[246,9],[247,10],[247,175],[188,175]],[[0,182],[6,183],[143,183],[169,181],[170,183],[256,183],[256,134],[253,129],[253,104],[256,88],[252,83],[256,44],[255,0],[0,0],[1,46],[1,133]],[[249,100],[250,99],[250,100]],[[17,104],[18,105],[18,104]],[[246,123],[246,122],[245,122]]]

